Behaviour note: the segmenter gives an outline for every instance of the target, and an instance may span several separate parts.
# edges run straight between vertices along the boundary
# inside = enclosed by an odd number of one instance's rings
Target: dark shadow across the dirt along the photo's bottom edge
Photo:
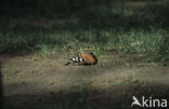
[[[108,91],[72,87],[57,93],[5,96],[5,109],[130,109],[132,96],[169,98],[169,85],[126,83]],[[139,107],[134,106],[136,109]],[[134,108],[133,108],[134,109]]]

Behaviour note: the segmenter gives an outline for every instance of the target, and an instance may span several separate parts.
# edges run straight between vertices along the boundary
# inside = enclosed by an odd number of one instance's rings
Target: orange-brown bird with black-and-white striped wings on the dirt
[[[68,66],[69,64],[77,64],[77,65],[83,65],[83,66],[96,65],[98,58],[92,52],[81,53],[70,58],[70,60],[66,63],[65,66]]]

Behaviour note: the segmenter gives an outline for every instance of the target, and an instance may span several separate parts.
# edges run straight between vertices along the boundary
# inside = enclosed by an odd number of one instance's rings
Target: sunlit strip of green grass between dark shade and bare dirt
[[[52,50],[83,52],[93,49],[100,55],[105,50],[117,49],[120,53],[159,54],[169,53],[167,30],[60,30],[42,35],[42,31],[28,35],[6,35],[0,40],[0,52],[36,51],[50,54]]]

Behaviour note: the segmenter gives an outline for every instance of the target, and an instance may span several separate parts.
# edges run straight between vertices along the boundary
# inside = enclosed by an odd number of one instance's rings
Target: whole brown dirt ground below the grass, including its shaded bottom
[[[130,109],[132,96],[169,98],[168,63],[110,54],[95,66],[64,66],[66,58],[0,55],[4,109]]]

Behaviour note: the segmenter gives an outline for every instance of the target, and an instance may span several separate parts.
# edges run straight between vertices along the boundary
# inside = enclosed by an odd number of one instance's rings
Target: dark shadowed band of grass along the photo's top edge
[[[13,3],[15,5],[9,2],[1,4],[2,19],[4,17],[1,23],[2,31],[3,28],[14,31],[24,30],[25,32],[35,29],[39,31],[41,28],[47,31],[55,29],[77,31],[79,28],[141,28],[147,30],[152,26],[162,28],[169,26],[169,2],[167,0],[161,2],[158,0],[65,0],[65,2],[60,0],[56,2],[52,0],[22,2],[18,0]],[[50,6],[50,9],[46,6]],[[3,25],[5,23],[10,23],[10,25]]]

